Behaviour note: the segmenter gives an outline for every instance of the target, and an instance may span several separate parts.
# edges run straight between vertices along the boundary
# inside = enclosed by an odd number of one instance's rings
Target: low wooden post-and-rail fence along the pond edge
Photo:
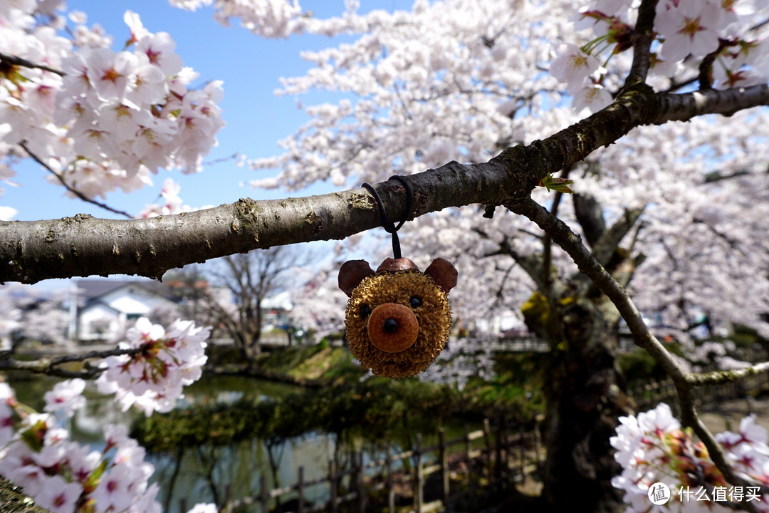
[[[435,445],[423,446],[421,435],[416,435],[411,450],[396,452],[388,446],[381,458],[368,462],[362,452],[355,452],[349,468],[339,469],[331,461],[328,474],[318,479],[305,480],[305,469],[299,467],[295,485],[270,489],[261,476],[258,495],[227,500],[222,511],[250,506],[247,511],[261,513],[363,513],[372,500],[381,503],[378,511],[390,513],[396,505],[398,511],[451,511],[451,501],[471,493],[474,485],[501,489],[537,470],[542,454],[538,430],[520,426],[512,431],[504,421],[492,430],[487,419],[482,429],[466,429],[451,440],[441,428]],[[322,487],[327,500],[309,501],[308,489],[314,487]]]

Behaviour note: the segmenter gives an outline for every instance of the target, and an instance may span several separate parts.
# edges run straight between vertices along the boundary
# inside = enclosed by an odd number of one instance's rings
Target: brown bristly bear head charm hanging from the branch
[[[376,272],[365,260],[346,261],[339,288],[350,298],[350,352],[375,375],[418,375],[448,341],[448,291],[455,285],[457,270],[444,258],[435,258],[424,273],[408,258],[387,258]]]

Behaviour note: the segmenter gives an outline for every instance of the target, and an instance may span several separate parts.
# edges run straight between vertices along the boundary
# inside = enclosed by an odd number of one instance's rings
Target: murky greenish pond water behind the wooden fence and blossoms
[[[19,401],[42,411],[42,394],[52,388],[56,381],[55,378],[42,377],[11,381],[11,385],[15,388]],[[302,388],[294,385],[272,381],[204,375],[200,381],[185,388],[185,398],[180,401],[179,407],[211,402],[231,403],[241,398],[281,398],[301,390]],[[93,449],[104,448],[103,425],[112,423],[128,428],[135,415],[141,415],[133,411],[120,411],[110,397],[98,395],[92,384],[86,389],[86,395],[86,408],[78,411],[66,427],[72,432],[72,439],[89,444]],[[435,441],[437,428],[438,426],[428,423],[419,425],[416,430],[424,433],[423,443],[429,445]],[[464,433],[464,422],[457,422],[446,429],[449,437],[460,436]],[[321,478],[328,474],[328,465],[334,457],[335,445],[334,435],[311,432],[271,448],[268,448],[264,441],[253,439],[224,448],[202,445],[173,457],[148,455],[147,460],[155,465],[155,474],[151,481],[158,481],[160,485],[158,501],[163,505],[164,511],[185,513],[198,502],[221,503],[226,494],[233,499],[258,495],[263,475],[267,478],[270,488],[294,485],[300,467],[303,468],[305,481]],[[371,453],[368,454],[365,453],[365,460],[372,458]],[[277,467],[276,477],[271,471],[271,460]],[[311,501],[325,500],[328,498],[328,489],[320,486],[308,488],[306,497]],[[255,507],[252,509],[255,510]]]

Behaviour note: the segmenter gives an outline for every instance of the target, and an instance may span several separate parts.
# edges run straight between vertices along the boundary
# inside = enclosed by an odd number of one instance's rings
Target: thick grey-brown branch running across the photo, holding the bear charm
[[[501,205],[529,197],[537,182],[611,144],[632,128],[708,113],[733,114],[769,105],[769,88],[655,94],[626,89],[608,108],[531,145],[504,150],[489,162],[409,176],[411,212],[396,181],[377,186],[390,221],[471,203]],[[373,198],[352,191],[255,202],[241,199],[199,212],[149,219],[107,220],[76,215],[38,222],[0,222],[0,281],[34,283],[88,275],[160,278],[170,268],[255,248],[340,239],[381,225]]]

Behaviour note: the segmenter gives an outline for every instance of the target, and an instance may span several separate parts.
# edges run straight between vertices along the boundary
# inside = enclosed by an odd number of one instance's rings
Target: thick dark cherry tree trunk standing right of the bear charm
[[[544,501],[550,511],[620,511],[621,493],[611,478],[621,467],[609,445],[618,417],[628,415],[614,361],[618,315],[604,295],[561,298],[552,312]]]

